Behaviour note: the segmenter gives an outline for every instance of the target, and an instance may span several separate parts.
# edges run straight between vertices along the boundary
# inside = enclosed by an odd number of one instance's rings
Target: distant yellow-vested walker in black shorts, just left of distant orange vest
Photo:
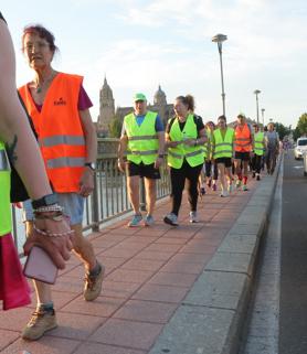
[[[213,131],[212,153],[219,169],[221,196],[229,196],[232,192],[232,161],[234,152],[234,130],[226,126],[226,117],[218,118],[218,129]],[[226,182],[226,178],[229,182]]]

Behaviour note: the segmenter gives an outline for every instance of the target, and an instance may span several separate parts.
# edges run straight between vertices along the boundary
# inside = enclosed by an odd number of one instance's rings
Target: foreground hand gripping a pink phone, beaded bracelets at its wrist
[[[61,222],[52,219],[36,219],[35,227],[41,230],[49,230],[52,234],[62,234],[71,230],[66,219]],[[65,261],[70,259],[71,250],[73,249],[73,234],[56,237],[45,236],[33,228],[23,245],[24,255],[28,255],[34,245],[41,246],[50,255],[55,266],[60,269],[64,269]]]

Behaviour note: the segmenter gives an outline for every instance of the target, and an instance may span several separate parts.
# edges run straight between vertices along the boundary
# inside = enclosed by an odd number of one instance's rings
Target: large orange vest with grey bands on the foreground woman
[[[77,192],[84,171],[85,138],[77,108],[82,81],[82,76],[59,73],[41,112],[28,85],[19,88],[39,137],[47,176],[59,193]]]

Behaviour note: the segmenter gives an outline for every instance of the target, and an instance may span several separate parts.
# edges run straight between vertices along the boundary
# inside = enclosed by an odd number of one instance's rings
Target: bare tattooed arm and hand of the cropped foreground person
[[[0,20],[0,139],[6,143],[11,162],[31,199],[41,200],[52,194],[52,190],[39,146],[17,94],[13,44],[9,29],[2,20]],[[33,245],[38,244],[50,254],[59,268],[64,268],[72,249],[70,226],[65,221],[53,221],[50,215],[52,213],[42,214],[47,218],[35,221],[36,228],[63,235],[53,237],[33,232],[24,245],[24,253],[28,254]]]

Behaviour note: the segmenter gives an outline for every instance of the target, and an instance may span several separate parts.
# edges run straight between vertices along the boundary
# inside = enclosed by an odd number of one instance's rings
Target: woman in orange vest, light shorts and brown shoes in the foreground
[[[55,71],[51,63],[57,50],[54,35],[42,25],[27,26],[22,46],[33,79],[19,88],[39,137],[47,176],[75,233],[74,251],[83,260],[83,297],[96,299],[102,289],[104,267],[93,246],[83,237],[84,200],[94,189],[97,153],[95,127],[88,108],[92,103],[83,88],[83,77]],[[28,232],[33,227],[31,203],[24,203]],[[50,286],[35,282],[38,308],[22,337],[38,340],[56,326]]]

